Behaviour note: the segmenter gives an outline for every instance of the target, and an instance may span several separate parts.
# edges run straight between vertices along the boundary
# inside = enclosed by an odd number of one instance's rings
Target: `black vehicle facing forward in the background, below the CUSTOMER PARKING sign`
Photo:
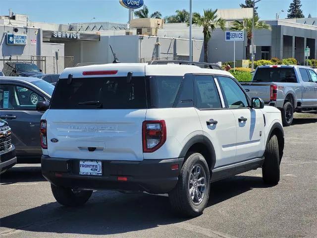
[[[42,70],[34,63],[29,62],[5,62],[2,72],[5,76],[28,77],[41,74]]]

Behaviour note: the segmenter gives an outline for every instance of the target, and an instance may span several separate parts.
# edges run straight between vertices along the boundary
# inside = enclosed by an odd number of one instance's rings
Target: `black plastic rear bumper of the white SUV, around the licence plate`
[[[102,161],[102,176],[79,175],[78,159],[43,155],[42,174],[56,186],[93,190],[146,191],[167,193],[178,180],[184,158],[143,161]],[[178,170],[171,165],[178,164]],[[117,177],[127,177],[118,181]]]

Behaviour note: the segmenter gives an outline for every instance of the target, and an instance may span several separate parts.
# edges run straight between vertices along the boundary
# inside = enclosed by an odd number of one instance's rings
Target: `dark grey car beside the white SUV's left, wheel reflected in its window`
[[[50,102],[54,86],[42,79],[1,77],[0,119],[12,128],[12,143],[18,163],[40,162],[42,155],[39,126],[44,112],[38,102]]]

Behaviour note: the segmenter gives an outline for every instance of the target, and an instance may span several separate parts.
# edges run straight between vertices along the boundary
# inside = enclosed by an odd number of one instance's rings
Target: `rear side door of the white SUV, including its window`
[[[204,135],[213,144],[214,168],[234,163],[236,156],[236,124],[230,110],[224,108],[211,75],[194,75],[194,104]]]

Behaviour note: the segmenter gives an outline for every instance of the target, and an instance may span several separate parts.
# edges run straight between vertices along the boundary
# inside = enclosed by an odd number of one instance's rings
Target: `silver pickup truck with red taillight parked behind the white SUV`
[[[240,82],[250,97],[278,108],[284,126],[292,124],[294,112],[317,110],[317,74],[301,65],[265,65],[256,69],[252,82]]]

